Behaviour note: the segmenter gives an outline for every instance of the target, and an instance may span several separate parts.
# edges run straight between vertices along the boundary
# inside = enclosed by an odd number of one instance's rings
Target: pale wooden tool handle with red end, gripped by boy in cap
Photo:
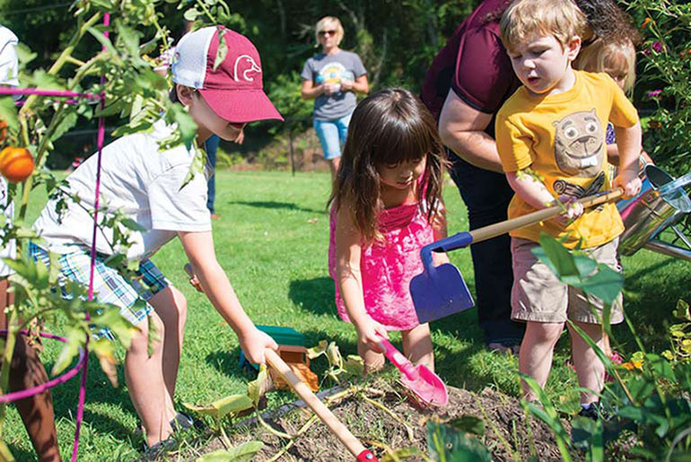
[[[264,357],[267,359],[269,366],[274,368],[276,372],[281,374],[281,377],[295,390],[295,393],[302,398],[310,409],[317,414],[321,422],[325,423],[328,429],[336,435],[346,448],[357,458],[358,462],[373,462],[379,460],[374,457],[369,449],[365,449],[363,444],[354,437],[346,425],[341,423],[337,416],[324,405],[319,398],[312,393],[311,389],[302,382],[301,379],[293,373],[293,370],[281,359],[281,357],[274,351],[267,349],[264,351]]]

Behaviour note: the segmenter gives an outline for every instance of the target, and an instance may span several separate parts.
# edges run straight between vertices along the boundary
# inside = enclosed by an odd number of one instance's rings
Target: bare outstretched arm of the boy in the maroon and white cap
[[[235,331],[242,351],[250,362],[263,363],[264,350],[276,350],[278,345],[258,330],[242,309],[228,276],[216,261],[211,231],[178,231],[178,236],[199,284],[214,308]]]

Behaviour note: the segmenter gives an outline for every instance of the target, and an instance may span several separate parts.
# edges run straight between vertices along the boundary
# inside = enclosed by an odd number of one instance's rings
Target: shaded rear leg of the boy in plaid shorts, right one
[[[188,316],[188,302],[182,292],[169,285],[149,300],[165,329],[163,337],[163,379],[171,399],[175,396],[182,340]]]

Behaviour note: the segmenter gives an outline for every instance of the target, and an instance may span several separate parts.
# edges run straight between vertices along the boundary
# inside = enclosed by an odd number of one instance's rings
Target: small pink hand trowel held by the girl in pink
[[[401,383],[410,388],[422,403],[440,407],[449,403],[449,391],[437,374],[424,364],[413,365],[389,340],[382,336],[379,336],[379,347],[389,361],[403,373]]]

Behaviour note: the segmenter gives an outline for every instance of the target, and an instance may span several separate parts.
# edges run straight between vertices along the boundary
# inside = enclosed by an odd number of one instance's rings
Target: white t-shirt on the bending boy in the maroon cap
[[[184,145],[159,151],[159,140],[171,135],[173,128],[163,120],[153,125],[152,133],[126,135],[103,148],[101,159],[100,205],[109,211],[122,210],[145,231],[131,231],[134,241],[127,258],[153,255],[177,231],[211,231],[211,215],[206,208],[206,175],[197,174],[185,187],[196,149]],[[72,252],[92,245],[93,210],[98,156],[92,155],[67,177],[70,193],[80,197],[59,217],[56,201],[48,202],[33,227],[42,235],[49,250]],[[84,210],[86,208],[87,210]],[[102,220],[99,215],[99,222]],[[96,249],[111,255],[112,231],[99,230]]]

